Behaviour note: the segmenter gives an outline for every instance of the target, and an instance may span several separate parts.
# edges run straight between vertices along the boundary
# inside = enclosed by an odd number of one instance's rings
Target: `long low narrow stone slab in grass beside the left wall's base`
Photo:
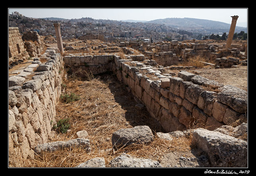
[[[37,145],[35,147],[34,151],[35,153],[39,154],[42,151],[56,151],[58,149],[62,149],[64,147],[82,147],[85,149],[86,152],[91,151],[90,142],[88,139],[82,139],[82,138],[76,138],[69,141],[57,141],[57,142],[50,142],[50,143],[44,143],[41,145]]]

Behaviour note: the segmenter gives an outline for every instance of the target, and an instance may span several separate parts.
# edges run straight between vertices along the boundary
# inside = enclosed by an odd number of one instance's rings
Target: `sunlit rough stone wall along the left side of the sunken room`
[[[37,65],[37,64],[33,64]],[[56,121],[56,105],[61,94],[63,58],[52,54],[34,67],[31,80],[9,77],[9,157],[34,157],[33,149],[46,143]]]

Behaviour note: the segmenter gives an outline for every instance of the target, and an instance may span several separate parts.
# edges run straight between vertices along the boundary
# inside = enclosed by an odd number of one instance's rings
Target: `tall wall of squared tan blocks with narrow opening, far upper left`
[[[18,27],[9,27],[8,54],[9,60],[15,59],[15,57],[20,59],[26,59],[28,57]]]

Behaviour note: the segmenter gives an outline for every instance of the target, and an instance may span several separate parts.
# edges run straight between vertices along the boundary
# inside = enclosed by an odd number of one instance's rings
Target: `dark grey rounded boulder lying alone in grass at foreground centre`
[[[116,148],[123,145],[147,144],[154,140],[153,133],[148,126],[135,126],[117,130],[112,134],[112,145]]]

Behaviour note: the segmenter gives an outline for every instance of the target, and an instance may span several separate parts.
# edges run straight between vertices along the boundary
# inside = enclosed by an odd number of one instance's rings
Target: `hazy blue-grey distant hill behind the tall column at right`
[[[178,27],[180,29],[203,29],[206,31],[219,31],[219,32],[229,32],[230,24],[223,23],[219,21],[212,21],[207,19],[196,19],[196,18],[165,18],[165,19],[155,19],[152,21],[147,21],[145,23],[157,23],[165,24],[171,27]],[[236,32],[244,31],[247,33],[246,27],[236,26]]]

